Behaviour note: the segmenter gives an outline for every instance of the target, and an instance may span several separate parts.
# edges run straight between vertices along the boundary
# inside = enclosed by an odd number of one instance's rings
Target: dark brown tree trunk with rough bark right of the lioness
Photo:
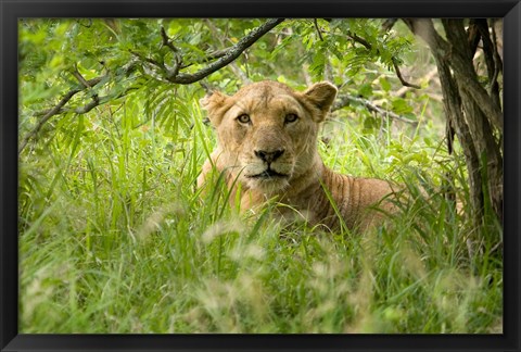
[[[466,32],[465,20],[447,18],[442,20],[444,39],[431,20],[404,21],[415,35],[428,43],[435,59],[447,129],[454,130],[460,141],[469,173],[471,216],[476,226],[484,225],[490,209],[503,221],[503,109],[497,81],[503,65],[495,45],[495,33],[491,32],[486,20],[471,20]],[[488,91],[480,83],[474,68],[473,60],[480,41]],[[448,138],[448,141],[452,142],[452,139]]]

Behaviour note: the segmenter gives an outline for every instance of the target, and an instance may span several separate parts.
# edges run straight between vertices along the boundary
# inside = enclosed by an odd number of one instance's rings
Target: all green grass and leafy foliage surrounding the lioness
[[[263,23],[21,21],[22,332],[503,331],[500,225],[491,215],[473,242],[467,171],[442,140],[435,87],[396,95],[395,64],[405,74],[422,50],[399,26],[287,20],[200,84],[165,76],[179,58],[183,74],[203,70]],[[336,171],[407,185],[403,215],[331,234],[280,224],[270,204],[239,214],[223,187],[199,194],[215,146],[199,99],[266,78],[340,86],[351,100],[323,126],[320,153]]]

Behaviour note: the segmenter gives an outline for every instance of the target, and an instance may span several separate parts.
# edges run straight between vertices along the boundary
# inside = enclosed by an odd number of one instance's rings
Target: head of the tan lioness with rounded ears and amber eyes
[[[314,166],[316,140],[336,88],[319,83],[304,92],[277,81],[260,81],[229,97],[202,100],[217,130],[225,166],[251,189],[272,194]]]

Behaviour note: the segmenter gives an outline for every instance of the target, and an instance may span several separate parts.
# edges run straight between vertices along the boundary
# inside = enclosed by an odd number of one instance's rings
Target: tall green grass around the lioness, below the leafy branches
[[[68,116],[24,152],[21,332],[503,331],[500,226],[444,199],[448,172],[469,206],[465,164],[432,127],[409,140],[328,124],[328,165],[414,196],[386,226],[331,234],[240,215],[224,189],[200,197],[213,134],[195,104],[179,114]]]

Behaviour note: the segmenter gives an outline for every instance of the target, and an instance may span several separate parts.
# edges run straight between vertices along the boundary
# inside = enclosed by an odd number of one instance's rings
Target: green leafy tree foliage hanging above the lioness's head
[[[61,95],[81,88],[78,75],[86,80],[101,77],[101,81],[88,89],[82,87],[59,113],[81,111],[91,100],[118,105],[122,96],[136,90],[154,95],[175,89],[160,70],[175,62],[175,52],[163,42],[162,27],[182,58],[182,70],[190,74],[204,67],[208,56],[237,43],[260,24],[259,20],[23,20],[22,136],[30,135],[27,131],[38,125]],[[380,86],[390,91],[393,74],[385,67],[392,66],[393,58],[401,61],[410,37],[381,35],[374,20],[320,20],[318,24],[320,27],[315,28],[312,20],[288,22],[287,27],[262,37],[245,55],[206,78],[204,85],[232,92],[244,80],[278,79],[304,88],[305,81],[330,79],[353,96],[372,97]],[[371,49],[352,39],[354,30],[358,41],[367,42]],[[194,93],[204,95],[202,89]],[[163,106],[166,97],[152,99],[151,103]],[[378,92],[376,97],[380,98]],[[384,109],[398,114],[410,112],[401,97],[384,98]],[[160,109],[165,114],[157,120],[168,120],[170,114]],[[148,120],[150,114],[143,116],[143,121]],[[52,127],[51,121],[43,129],[54,130]]]

